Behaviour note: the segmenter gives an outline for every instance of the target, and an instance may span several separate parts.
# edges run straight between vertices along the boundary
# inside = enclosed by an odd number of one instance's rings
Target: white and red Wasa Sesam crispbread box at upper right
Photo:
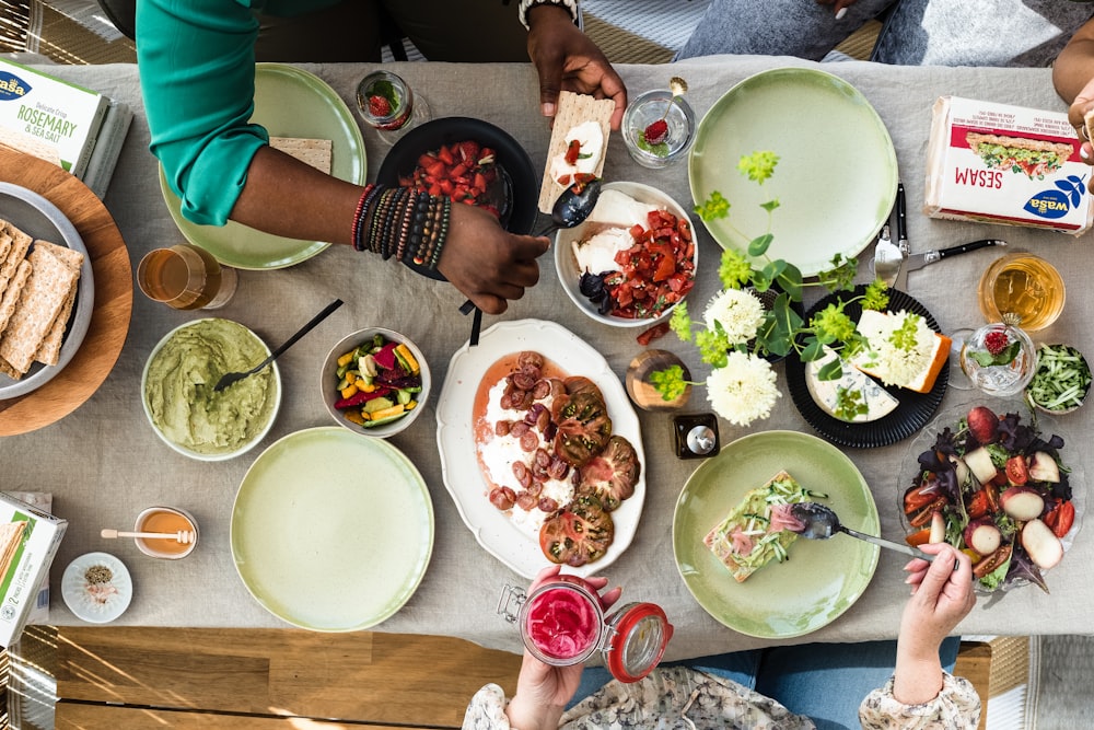
[[[923,212],[1073,235],[1094,220],[1091,166],[1063,112],[959,96],[934,103]]]

